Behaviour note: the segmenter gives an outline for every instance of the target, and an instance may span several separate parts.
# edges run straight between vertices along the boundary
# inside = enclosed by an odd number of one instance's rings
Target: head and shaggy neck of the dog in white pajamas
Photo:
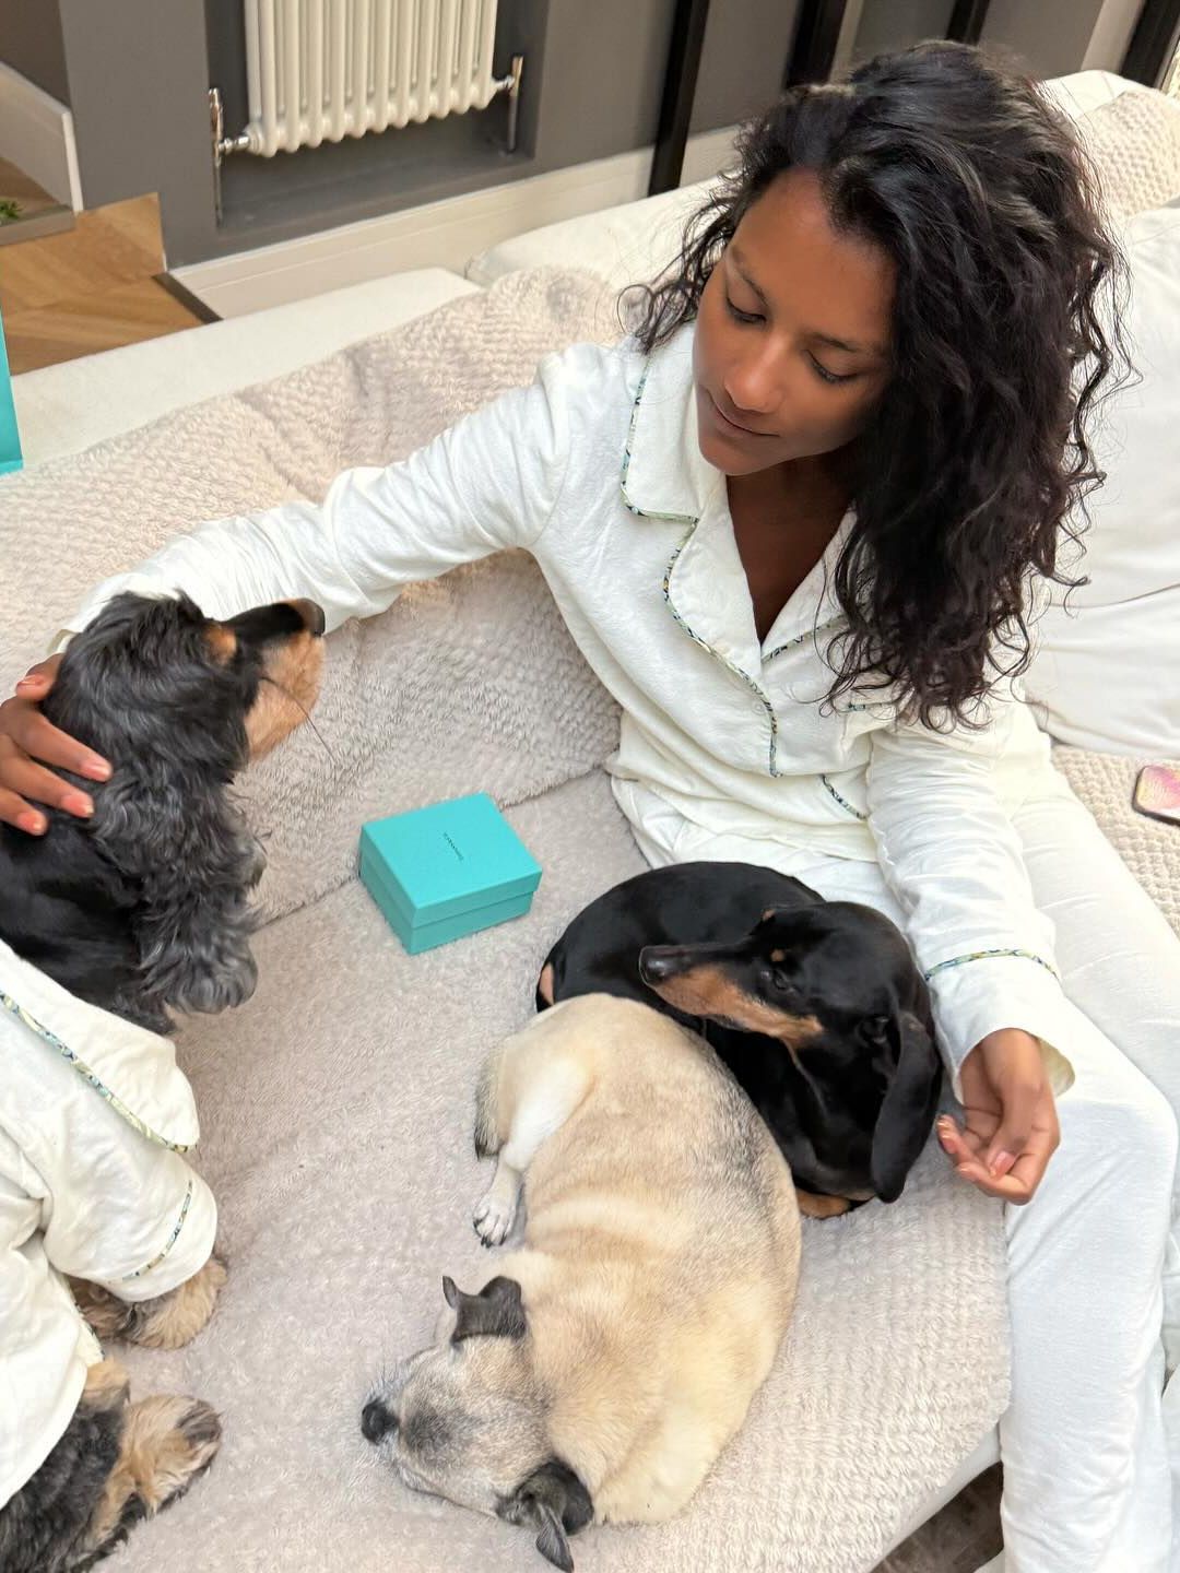
[[[249,999],[264,868],[231,798],[315,703],[324,613],[280,601],[225,623],[186,596],[121,595],[66,650],[42,709],[116,764],[77,820],[0,824],[0,939],[71,994],[154,1032],[168,1008]]]

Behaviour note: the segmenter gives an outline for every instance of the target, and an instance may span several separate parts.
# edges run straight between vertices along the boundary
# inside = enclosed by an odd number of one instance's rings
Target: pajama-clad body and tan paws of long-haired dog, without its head
[[[181,1156],[197,1112],[167,1038],[0,944],[0,1567],[65,1573],[181,1496],[220,1444],[198,1398],[131,1403],[96,1332],[176,1348],[225,1268],[212,1194]]]

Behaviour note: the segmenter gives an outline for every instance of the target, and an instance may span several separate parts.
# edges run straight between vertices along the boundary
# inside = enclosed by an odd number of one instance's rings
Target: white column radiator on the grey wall
[[[497,0],[244,0],[250,120],[238,137],[211,91],[216,156],[294,153],[370,131],[486,109],[521,57],[492,76]]]

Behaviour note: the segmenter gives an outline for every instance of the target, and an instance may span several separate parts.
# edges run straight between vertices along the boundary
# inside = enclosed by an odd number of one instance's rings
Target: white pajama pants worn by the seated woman
[[[629,783],[618,796],[651,864],[765,864],[902,920],[876,864],[719,837]],[[1004,1573],[1180,1573],[1180,1376],[1164,1392],[1164,1345],[1180,1364],[1180,941],[1056,771],[1012,820],[1057,928],[1076,1079],[1034,1200],[1005,1219]]]

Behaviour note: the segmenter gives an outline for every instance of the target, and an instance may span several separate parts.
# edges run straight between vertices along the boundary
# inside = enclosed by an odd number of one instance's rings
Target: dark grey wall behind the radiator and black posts
[[[1076,71],[1095,27],[1133,5],[993,0],[985,38],[1038,72]],[[694,132],[728,126],[776,93],[798,8],[713,0]],[[941,31],[947,14],[947,0],[867,0],[854,50]],[[293,156],[241,156],[225,165],[222,227],[208,88],[223,90],[227,124],[239,129],[241,0],[0,0],[0,58],[19,53],[19,69],[68,96],[87,206],[160,193],[168,263],[179,266],[650,145],[673,16],[675,0],[500,0],[497,71],[516,49],[527,53],[516,156],[502,151],[502,104]]]

